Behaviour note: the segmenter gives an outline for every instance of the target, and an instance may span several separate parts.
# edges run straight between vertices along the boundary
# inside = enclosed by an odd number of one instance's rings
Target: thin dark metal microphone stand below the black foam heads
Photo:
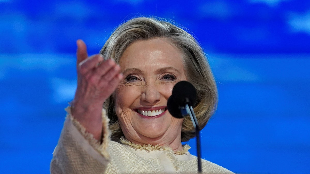
[[[191,120],[193,122],[193,126],[195,128],[196,132],[196,143],[197,143],[197,163],[198,163],[198,173],[201,173],[201,147],[200,147],[200,131],[199,131],[199,125],[193,110],[192,106],[188,106],[188,104],[185,104],[185,107],[181,107],[181,114],[183,116],[189,115],[191,117]]]

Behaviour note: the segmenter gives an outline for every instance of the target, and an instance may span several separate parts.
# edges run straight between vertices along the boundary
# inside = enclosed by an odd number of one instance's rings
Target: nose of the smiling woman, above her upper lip
[[[156,104],[160,101],[161,94],[158,92],[156,85],[150,84],[144,87],[141,94],[141,100],[147,102],[148,104]]]

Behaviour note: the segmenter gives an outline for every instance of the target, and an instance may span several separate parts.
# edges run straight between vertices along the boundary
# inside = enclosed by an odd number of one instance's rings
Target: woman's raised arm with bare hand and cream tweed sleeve
[[[51,173],[102,173],[108,164],[108,117],[102,109],[122,74],[111,59],[87,56],[77,41],[78,87],[51,161]]]

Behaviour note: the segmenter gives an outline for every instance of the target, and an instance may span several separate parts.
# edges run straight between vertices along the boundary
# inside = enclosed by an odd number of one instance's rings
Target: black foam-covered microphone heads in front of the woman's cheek
[[[168,98],[167,107],[170,114],[176,118],[183,118],[181,107],[193,106],[196,101],[196,89],[188,81],[180,81],[172,89],[172,95]]]

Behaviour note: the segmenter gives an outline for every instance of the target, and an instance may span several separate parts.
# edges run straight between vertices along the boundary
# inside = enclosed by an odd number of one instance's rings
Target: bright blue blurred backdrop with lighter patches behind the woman
[[[202,130],[204,159],[310,173],[310,1],[0,0],[1,173],[49,172],[76,88],[76,40],[96,54],[139,15],[175,20],[208,54],[219,106]]]

